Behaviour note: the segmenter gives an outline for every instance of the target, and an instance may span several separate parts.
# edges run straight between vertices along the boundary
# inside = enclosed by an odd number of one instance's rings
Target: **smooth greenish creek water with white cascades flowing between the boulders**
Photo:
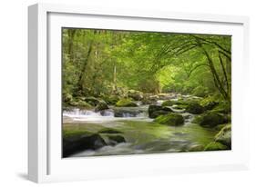
[[[157,104],[163,101],[159,100]],[[115,117],[115,110],[121,111],[121,116]],[[213,129],[191,123],[194,118],[193,114],[174,108],[172,110],[183,115],[184,125],[172,127],[154,123],[153,119],[148,118],[148,105],[125,108],[112,106],[104,113],[79,109],[64,111],[63,125],[66,129],[88,130],[97,133],[102,128],[108,127],[123,132],[122,136],[126,139],[126,143],[75,153],[71,157],[188,152],[194,146],[205,146],[212,142],[214,135],[218,133]],[[104,138],[104,134],[102,136]]]

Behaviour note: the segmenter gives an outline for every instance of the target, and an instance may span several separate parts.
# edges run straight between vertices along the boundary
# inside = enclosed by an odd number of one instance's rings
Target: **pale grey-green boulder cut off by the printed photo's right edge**
[[[231,148],[231,124],[227,124],[217,133],[215,141]]]

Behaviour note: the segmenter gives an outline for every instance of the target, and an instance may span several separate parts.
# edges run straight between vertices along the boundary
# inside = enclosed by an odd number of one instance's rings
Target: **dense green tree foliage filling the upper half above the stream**
[[[230,36],[71,28],[62,35],[65,103],[87,96],[116,103],[113,95],[128,90],[219,94],[230,103]]]

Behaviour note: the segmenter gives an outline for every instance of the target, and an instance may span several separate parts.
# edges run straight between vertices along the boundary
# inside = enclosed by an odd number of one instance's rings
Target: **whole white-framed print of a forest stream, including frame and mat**
[[[247,17],[28,11],[30,180],[248,168]]]

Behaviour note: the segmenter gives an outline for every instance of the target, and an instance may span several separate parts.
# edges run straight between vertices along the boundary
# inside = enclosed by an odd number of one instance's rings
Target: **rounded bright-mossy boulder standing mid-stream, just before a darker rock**
[[[179,126],[184,124],[184,118],[179,113],[169,113],[166,115],[159,115],[154,120],[155,123],[167,124],[169,126]]]

